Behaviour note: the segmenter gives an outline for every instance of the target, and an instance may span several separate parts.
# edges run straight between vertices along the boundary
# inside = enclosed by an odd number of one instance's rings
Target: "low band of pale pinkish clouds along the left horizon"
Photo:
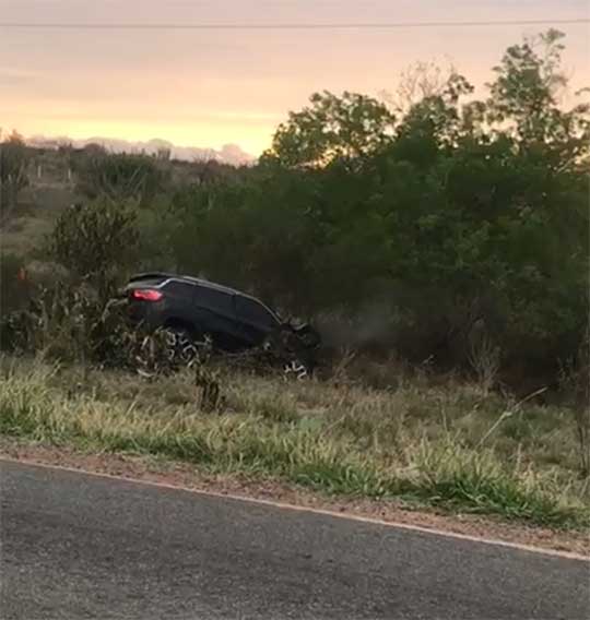
[[[193,146],[176,146],[165,140],[150,140],[149,142],[129,142],[113,138],[88,138],[87,140],[72,140],[67,136],[46,138],[34,135],[26,140],[30,146],[37,148],[58,148],[64,144],[71,144],[75,148],[82,148],[87,144],[99,144],[114,153],[146,153],[155,155],[158,151],[170,152],[173,159],[185,162],[203,162],[214,159],[222,164],[241,166],[252,164],[256,157],[243,151],[237,144],[225,144],[221,151],[214,148],[198,148]]]

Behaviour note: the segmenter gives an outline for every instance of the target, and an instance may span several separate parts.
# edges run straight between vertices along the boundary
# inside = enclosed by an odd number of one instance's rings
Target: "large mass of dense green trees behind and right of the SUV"
[[[587,323],[590,241],[588,107],[558,105],[560,51],[554,31],[510,47],[485,100],[451,71],[399,119],[314,95],[248,175],[179,192],[174,262],[302,315],[355,317],[358,341],[411,359],[470,368],[476,337],[503,378],[555,378]]]

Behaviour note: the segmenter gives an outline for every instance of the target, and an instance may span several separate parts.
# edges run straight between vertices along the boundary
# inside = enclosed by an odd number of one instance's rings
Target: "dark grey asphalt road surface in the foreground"
[[[590,563],[0,462],[3,619],[590,618]]]

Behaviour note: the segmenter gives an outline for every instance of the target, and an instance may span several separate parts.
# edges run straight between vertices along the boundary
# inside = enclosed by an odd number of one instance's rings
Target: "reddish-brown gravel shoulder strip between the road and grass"
[[[448,515],[394,501],[331,498],[274,480],[212,475],[185,463],[127,454],[88,454],[0,438],[0,458],[105,474],[182,489],[309,508],[461,536],[487,538],[590,558],[590,533],[555,530],[471,514]]]

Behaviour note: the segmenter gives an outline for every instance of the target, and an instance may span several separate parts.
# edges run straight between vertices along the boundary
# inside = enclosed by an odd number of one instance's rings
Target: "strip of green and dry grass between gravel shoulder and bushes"
[[[150,383],[38,361],[0,366],[8,438],[156,455],[341,497],[590,525],[567,409],[516,406],[458,384],[388,392],[234,373],[222,378],[223,412],[204,414],[188,372]]]

